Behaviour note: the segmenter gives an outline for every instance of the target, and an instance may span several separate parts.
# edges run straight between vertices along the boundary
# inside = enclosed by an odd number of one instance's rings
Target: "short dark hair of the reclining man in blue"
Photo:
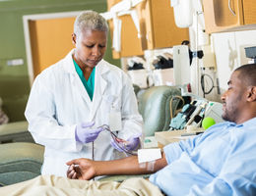
[[[238,77],[245,82],[246,85],[256,86],[256,63],[246,64],[234,70],[238,71]]]

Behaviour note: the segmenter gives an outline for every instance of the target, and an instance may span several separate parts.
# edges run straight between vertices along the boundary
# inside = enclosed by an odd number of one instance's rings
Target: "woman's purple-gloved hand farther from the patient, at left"
[[[93,128],[92,126],[94,125],[94,122],[81,123],[80,125],[77,125],[75,132],[76,141],[81,143],[89,143],[95,141],[97,135],[103,130],[103,128]]]

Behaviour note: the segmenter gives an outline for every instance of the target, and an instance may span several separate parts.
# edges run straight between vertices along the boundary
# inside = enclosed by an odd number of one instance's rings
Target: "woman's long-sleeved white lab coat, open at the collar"
[[[142,117],[127,74],[101,60],[96,65],[92,102],[76,73],[72,52],[37,75],[25,112],[34,141],[45,146],[42,174],[66,176],[66,162],[92,159],[93,143],[76,142],[76,125],[92,121],[95,127],[109,124],[112,107],[121,113],[120,138],[142,132]],[[94,142],[95,160],[117,158],[110,139],[109,132],[99,133]]]

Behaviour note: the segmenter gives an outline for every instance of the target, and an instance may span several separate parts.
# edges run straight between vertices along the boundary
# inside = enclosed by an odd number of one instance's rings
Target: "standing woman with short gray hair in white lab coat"
[[[25,115],[34,141],[45,146],[42,174],[65,176],[69,160],[112,160],[124,143],[131,151],[140,143],[142,117],[132,83],[102,59],[107,31],[96,12],[80,14],[72,34],[76,48],[32,84]]]

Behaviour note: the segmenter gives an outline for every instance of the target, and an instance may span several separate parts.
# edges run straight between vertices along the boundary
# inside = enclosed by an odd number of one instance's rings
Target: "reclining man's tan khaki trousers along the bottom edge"
[[[123,182],[68,179],[54,175],[39,175],[31,180],[4,186],[0,195],[8,196],[159,196],[160,189],[144,178],[129,178]]]

